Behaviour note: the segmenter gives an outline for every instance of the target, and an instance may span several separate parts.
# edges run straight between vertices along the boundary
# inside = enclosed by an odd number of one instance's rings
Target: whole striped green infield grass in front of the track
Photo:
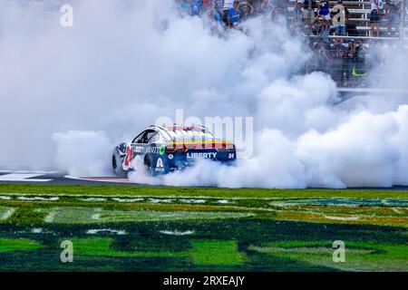
[[[407,191],[0,185],[0,196],[0,271],[408,271]],[[107,228],[126,234],[87,234]]]

